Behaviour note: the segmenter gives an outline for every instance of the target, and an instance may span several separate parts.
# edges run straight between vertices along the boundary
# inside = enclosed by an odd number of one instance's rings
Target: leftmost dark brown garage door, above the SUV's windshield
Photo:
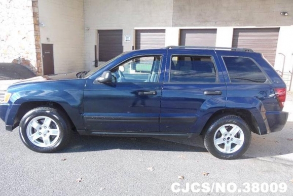
[[[98,30],[98,61],[108,61],[123,53],[122,30]]]

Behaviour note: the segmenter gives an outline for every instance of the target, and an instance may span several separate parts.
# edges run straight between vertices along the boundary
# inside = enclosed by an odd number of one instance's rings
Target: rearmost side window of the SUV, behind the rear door
[[[232,83],[265,83],[267,77],[250,58],[223,57]]]

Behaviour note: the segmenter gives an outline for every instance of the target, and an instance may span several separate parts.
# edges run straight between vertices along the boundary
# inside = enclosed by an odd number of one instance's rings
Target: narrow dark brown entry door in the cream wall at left
[[[53,44],[42,44],[43,74],[54,74]]]

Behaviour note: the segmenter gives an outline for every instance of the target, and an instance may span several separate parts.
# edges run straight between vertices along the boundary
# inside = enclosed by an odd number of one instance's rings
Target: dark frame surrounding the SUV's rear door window
[[[214,66],[214,70],[215,70],[215,82],[170,82],[170,77],[171,77],[171,64],[172,64],[172,58],[176,56],[189,56],[189,57],[210,57],[211,62]],[[218,84],[218,70],[217,70],[217,66],[214,60],[214,57],[212,55],[194,55],[194,54],[171,54],[170,55],[170,64],[169,64],[169,78],[167,83],[171,83],[171,84]]]

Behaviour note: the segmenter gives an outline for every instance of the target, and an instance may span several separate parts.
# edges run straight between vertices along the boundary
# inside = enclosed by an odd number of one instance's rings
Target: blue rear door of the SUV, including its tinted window
[[[226,106],[227,87],[213,50],[169,49],[162,90],[160,131],[200,132]]]

